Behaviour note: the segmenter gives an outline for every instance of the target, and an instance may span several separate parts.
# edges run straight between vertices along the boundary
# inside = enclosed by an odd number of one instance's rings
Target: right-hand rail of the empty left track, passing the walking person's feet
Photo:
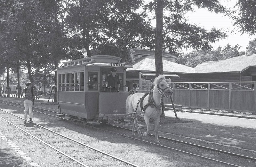
[[[18,107],[18,106],[17,106],[17,107]],[[0,110],[4,111],[3,109],[0,109]],[[4,112],[9,113],[9,114],[14,115],[14,116],[17,116],[17,117],[19,117],[20,119],[23,119],[23,118],[21,118],[20,116],[15,115],[15,114],[12,114],[12,113],[10,113],[10,112],[8,112],[8,111],[4,111]],[[29,121],[29,122],[30,122],[30,121]],[[33,122],[30,122],[30,123],[33,123]],[[55,133],[55,134],[57,134],[57,135],[60,135],[60,136],[62,136],[62,137],[64,137],[64,138],[66,138],[66,139],[72,140],[72,141],[74,141],[74,142],[76,142],[76,143],[78,143],[78,144],[81,144],[81,145],[85,146],[85,147],[91,148],[91,149],[93,149],[93,150],[95,150],[95,151],[97,151],[97,152],[99,152],[99,153],[102,153],[102,154],[105,154],[105,155],[107,155],[107,156],[109,156],[109,157],[112,157],[112,158],[114,158],[114,159],[116,159],[116,160],[118,160],[118,161],[124,162],[124,163],[126,163],[126,164],[128,164],[128,165],[131,165],[131,166],[134,166],[134,167],[139,167],[139,166],[137,166],[137,165],[135,165],[135,164],[133,164],[133,163],[127,162],[127,161],[125,161],[125,160],[123,160],[123,159],[121,159],[121,158],[118,158],[118,157],[114,156],[114,155],[110,155],[110,154],[105,153],[105,152],[103,152],[103,151],[100,151],[100,150],[98,150],[98,149],[96,149],[96,148],[94,148],[94,147],[91,147],[91,146],[89,146],[89,145],[86,145],[86,144],[84,144],[84,143],[81,143],[81,142],[79,142],[79,141],[77,141],[77,140],[75,140],[75,139],[72,139],[72,138],[69,138],[69,137],[67,137],[67,136],[65,136],[65,135],[62,135],[62,134],[60,134],[60,133],[58,133],[58,132],[56,132],[56,131],[52,131],[52,130],[50,130],[50,129],[44,127],[44,126],[41,126],[41,125],[39,125],[39,124],[37,124],[37,123],[33,123],[33,124],[35,124],[36,126],[39,126],[39,127],[43,128],[43,129],[46,129],[46,130],[48,130],[48,131],[51,131],[51,132],[53,132],[53,133]]]

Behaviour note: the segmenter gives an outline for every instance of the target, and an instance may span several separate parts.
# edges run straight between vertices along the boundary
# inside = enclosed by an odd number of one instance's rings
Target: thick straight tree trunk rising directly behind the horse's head
[[[163,0],[156,1],[155,65],[156,76],[163,75]]]

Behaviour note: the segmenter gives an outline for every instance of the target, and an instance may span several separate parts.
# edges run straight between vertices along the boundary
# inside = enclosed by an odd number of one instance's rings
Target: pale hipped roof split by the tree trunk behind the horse
[[[127,69],[127,71],[141,71],[141,72],[155,72],[155,59],[145,58],[138,63],[132,65],[132,68]],[[164,73],[192,73],[194,74],[195,69],[174,63],[168,60],[163,60],[163,72]]]

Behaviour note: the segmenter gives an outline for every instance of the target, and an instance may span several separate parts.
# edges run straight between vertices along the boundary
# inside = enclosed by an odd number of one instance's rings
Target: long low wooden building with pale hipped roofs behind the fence
[[[139,57],[133,68],[127,69],[129,90],[141,79],[154,80],[155,59],[153,56]],[[142,56],[142,54],[141,54]],[[138,61],[140,60],[140,61]],[[195,68],[177,64],[163,58],[163,73],[170,82],[256,82],[256,55],[236,56],[227,60],[201,62]]]

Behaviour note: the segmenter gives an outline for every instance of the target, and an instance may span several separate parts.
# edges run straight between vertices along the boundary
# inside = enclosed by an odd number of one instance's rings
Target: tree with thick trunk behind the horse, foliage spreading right
[[[211,50],[210,43],[226,37],[220,29],[212,28],[207,31],[200,26],[190,24],[185,18],[185,14],[195,10],[196,7],[206,8],[210,12],[225,13],[227,10],[219,3],[219,0],[154,0],[146,7],[150,11],[154,11],[156,16],[154,44],[156,75],[163,74],[163,45],[171,52],[177,52],[181,47]]]

